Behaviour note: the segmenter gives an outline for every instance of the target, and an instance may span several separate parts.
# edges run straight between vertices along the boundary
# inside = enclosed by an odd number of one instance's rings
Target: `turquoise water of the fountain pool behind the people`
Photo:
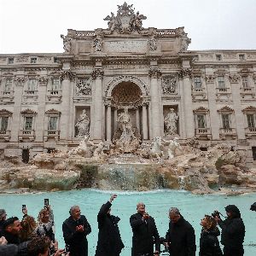
[[[94,189],[82,189],[65,192],[40,193],[30,195],[0,195],[0,208],[7,210],[8,216],[22,218],[21,206],[26,204],[28,214],[38,217],[38,212],[44,205],[44,198],[49,198],[55,214],[56,238],[60,247],[64,246],[61,224],[68,217],[68,210],[73,205],[79,205],[82,214],[86,216],[92,228],[88,236],[89,255],[96,251],[97,222],[96,215],[103,203],[108,201],[112,192]],[[113,201],[112,213],[118,215],[119,230],[125,243],[121,256],[131,255],[131,227],[129,218],[136,212],[138,201],[143,201],[146,211],[154,217],[160,236],[165,236],[168,229],[168,209],[179,208],[183,217],[195,228],[197,254],[199,252],[199,237],[201,232],[200,221],[204,214],[210,214],[218,209],[224,213],[224,207],[235,204],[241,210],[241,216],[246,225],[245,256],[256,255],[256,212],[249,210],[256,201],[256,194],[225,196],[225,195],[192,195],[189,192],[177,190],[156,190],[149,192],[117,192],[118,198]]]

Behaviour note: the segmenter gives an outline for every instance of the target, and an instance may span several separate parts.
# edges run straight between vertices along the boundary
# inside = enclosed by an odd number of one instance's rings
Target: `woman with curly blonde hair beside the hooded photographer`
[[[201,219],[201,226],[199,256],[222,256],[223,253],[218,242],[220,232],[215,218],[206,215],[205,218]]]

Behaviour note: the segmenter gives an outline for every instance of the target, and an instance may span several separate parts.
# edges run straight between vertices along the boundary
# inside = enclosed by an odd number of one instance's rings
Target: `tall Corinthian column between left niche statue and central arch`
[[[96,68],[91,73],[91,76],[92,76],[92,79],[95,80],[93,139],[96,141],[101,141],[102,140],[102,79],[103,79],[102,69]]]

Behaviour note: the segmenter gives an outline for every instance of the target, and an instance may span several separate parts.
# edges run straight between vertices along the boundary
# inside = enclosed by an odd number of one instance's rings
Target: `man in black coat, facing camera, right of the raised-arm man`
[[[160,237],[154,223],[154,218],[145,212],[143,202],[137,204],[137,213],[131,215],[130,224],[133,232],[131,256],[159,255]]]

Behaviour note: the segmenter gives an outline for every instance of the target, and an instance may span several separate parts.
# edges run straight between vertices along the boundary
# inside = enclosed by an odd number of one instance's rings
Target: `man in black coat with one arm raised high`
[[[112,201],[117,195],[111,195],[109,201],[102,205],[97,216],[99,235],[96,256],[119,256],[124,244],[119,233],[119,217],[110,215]]]

